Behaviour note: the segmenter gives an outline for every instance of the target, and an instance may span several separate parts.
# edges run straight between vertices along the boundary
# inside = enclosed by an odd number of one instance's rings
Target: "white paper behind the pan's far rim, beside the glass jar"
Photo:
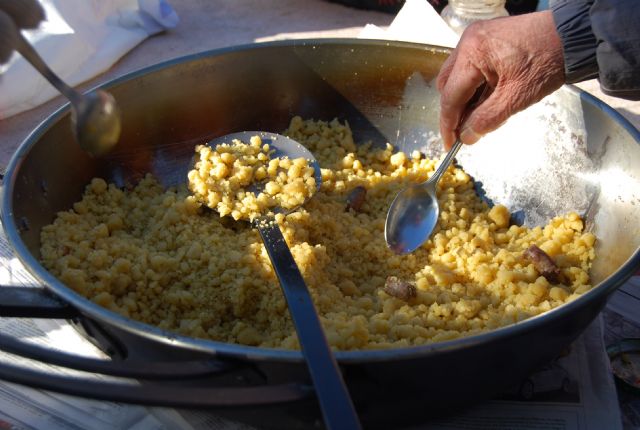
[[[386,30],[367,24],[359,37],[402,40],[449,48],[455,47],[460,39],[427,0],[406,0]]]

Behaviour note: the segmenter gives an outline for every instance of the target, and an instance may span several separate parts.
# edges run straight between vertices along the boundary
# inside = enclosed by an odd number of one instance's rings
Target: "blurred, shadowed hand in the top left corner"
[[[18,31],[36,28],[44,20],[37,0],[0,0],[0,64],[11,58],[18,44]]]

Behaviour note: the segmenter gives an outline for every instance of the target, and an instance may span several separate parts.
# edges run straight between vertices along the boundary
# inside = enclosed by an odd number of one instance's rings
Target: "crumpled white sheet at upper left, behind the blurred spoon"
[[[144,39],[179,21],[166,0],[40,3],[46,21],[23,34],[49,67],[72,86],[104,72]],[[17,53],[0,72],[0,118],[36,107],[58,94]]]

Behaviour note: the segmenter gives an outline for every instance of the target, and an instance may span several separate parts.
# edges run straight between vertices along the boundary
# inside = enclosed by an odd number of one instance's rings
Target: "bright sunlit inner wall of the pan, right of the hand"
[[[506,205],[518,223],[540,226],[570,211],[584,218],[598,238],[591,294],[638,267],[640,133],[612,117],[620,118],[598,99],[565,87],[457,157],[481,178],[481,192]]]

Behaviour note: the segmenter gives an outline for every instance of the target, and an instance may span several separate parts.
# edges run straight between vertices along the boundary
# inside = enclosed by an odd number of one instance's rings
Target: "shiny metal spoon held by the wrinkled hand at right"
[[[440,215],[438,181],[461,146],[462,142],[457,139],[428,180],[409,185],[393,199],[387,212],[384,238],[396,254],[415,251],[431,236]]]

